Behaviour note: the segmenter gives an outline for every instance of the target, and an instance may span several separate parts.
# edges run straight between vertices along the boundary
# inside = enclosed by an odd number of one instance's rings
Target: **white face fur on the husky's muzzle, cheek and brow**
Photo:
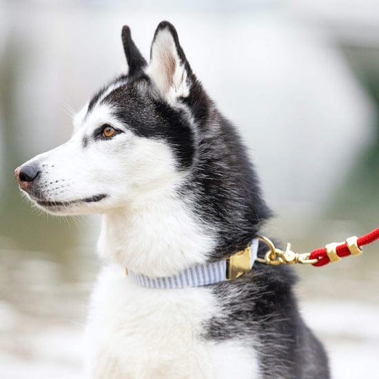
[[[83,119],[79,114],[76,132],[63,145],[39,154],[24,165],[38,162],[41,185],[50,201],[76,199],[107,194],[109,198],[96,203],[81,203],[65,209],[45,209],[56,214],[104,213],[110,209],[132,207],[145,198],[171,193],[183,174],[175,170],[172,152],[165,143],[136,136],[114,119],[109,105],[99,105]],[[83,138],[91,137],[104,123],[123,131],[110,141],[90,141],[83,147]],[[33,199],[32,199],[33,200]]]

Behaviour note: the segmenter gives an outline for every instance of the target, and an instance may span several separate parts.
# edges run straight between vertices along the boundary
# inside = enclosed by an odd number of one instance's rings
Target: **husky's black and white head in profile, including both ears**
[[[54,214],[107,212],[177,187],[192,165],[201,85],[174,27],[158,25],[147,64],[122,31],[127,74],[105,86],[74,118],[63,145],[15,170],[30,200]],[[194,101],[196,92],[196,101]]]

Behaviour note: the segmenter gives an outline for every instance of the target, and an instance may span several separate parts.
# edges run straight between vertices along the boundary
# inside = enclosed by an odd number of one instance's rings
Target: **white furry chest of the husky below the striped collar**
[[[257,378],[254,351],[203,337],[219,310],[212,291],[147,289],[108,267],[92,295],[90,378]]]

